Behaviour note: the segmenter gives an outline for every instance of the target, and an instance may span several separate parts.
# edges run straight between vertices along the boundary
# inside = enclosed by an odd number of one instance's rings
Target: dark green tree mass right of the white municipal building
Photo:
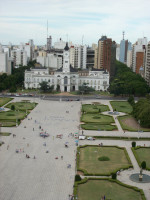
[[[115,77],[110,83],[110,93],[115,95],[135,95],[145,96],[150,88],[144,78],[132,70],[125,64],[116,61]]]

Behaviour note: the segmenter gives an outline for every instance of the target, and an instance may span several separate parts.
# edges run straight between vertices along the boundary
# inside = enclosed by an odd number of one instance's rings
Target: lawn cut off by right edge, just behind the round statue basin
[[[143,161],[146,161],[146,166],[150,170],[150,148],[149,147],[140,147],[140,148],[135,148],[134,152],[136,154],[136,158],[140,164]]]

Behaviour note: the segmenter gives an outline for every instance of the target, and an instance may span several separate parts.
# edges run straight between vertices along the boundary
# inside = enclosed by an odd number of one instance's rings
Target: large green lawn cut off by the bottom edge
[[[141,194],[131,188],[109,180],[88,180],[78,185],[78,200],[141,200]]]

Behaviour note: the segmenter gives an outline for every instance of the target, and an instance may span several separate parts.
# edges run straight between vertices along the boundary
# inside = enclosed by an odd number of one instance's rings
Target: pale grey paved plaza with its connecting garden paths
[[[13,101],[20,100],[21,98],[15,98]],[[79,131],[81,102],[30,100],[36,101],[38,105],[28,117],[18,127],[2,128],[2,132],[12,134],[1,138],[5,144],[0,147],[0,200],[68,200],[69,194],[73,193],[76,155],[75,138],[70,133]],[[109,101],[96,101],[108,105],[112,110]],[[90,100],[83,103],[92,102]],[[118,131],[85,130],[84,134],[150,137],[149,132],[124,133],[115,116],[114,120]],[[50,137],[41,138],[39,126],[49,133]],[[13,134],[16,134],[16,137],[13,138]],[[56,138],[56,135],[60,134],[63,134],[63,138]],[[68,148],[65,148],[66,142]],[[104,145],[126,147],[134,169],[121,172],[118,180],[143,189],[147,200],[150,199],[150,184],[134,183],[129,179],[130,174],[140,171],[131,151],[131,141],[84,140],[80,141],[79,145],[97,145],[101,142]],[[144,144],[150,146],[150,141],[137,141],[137,145]],[[19,153],[16,153],[16,149],[19,149]],[[29,159],[26,154],[30,156]],[[33,159],[34,156],[36,159]],[[71,164],[71,168],[67,168],[68,164]],[[147,171],[143,173],[150,175]]]

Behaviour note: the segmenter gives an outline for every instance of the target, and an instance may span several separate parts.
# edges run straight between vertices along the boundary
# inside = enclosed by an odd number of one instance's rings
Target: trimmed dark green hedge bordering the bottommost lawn
[[[116,180],[116,179],[112,179],[112,178],[94,178],[94,177],[91,178],[91,177],[90,177],[90,178],[84,178],[84,179],[82,179],[82,180],[79,181],[79,182],[75,182],[75,184],[74,184],[74,190],[73,190],[73,194],[74,194],[75,196],[77,196],[77,194],[78,194],[78,185],[84,184],[84,183],[86,183],[88,180],[108,180],[108,181],[111,181],[111,182],[115,182],[115,183],[117,183],[117,184],[119,184],[119,185],[121,185],[121,186],[124,186],[124,187],[129,188],[129,189],[133,189],[134,191],[139,192],[139,193],[141,194],[142,200],[146,200],[145,194],[144,194],[144,192],[143,192],[142,189],[139,189],[139,188],[134,187],[134,186],[131,186],[131,185],[127,185],[127,184],[125,184],[125,183],[122,183],[122,182],[120,182],[120,181],[118,181],[118,180]]]

